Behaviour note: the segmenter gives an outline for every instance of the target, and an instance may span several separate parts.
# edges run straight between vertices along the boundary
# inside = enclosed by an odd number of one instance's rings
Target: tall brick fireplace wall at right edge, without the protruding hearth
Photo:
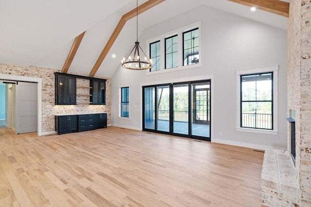
[[[296,111],[300,205],[311,206],[311,0],[291,0],[288,21],[288,113]],[[290,133],[288,133],[290,151]]]

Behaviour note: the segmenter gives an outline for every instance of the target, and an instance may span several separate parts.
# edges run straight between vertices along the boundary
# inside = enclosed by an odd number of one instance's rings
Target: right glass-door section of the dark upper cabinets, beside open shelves
[[[91,104],[105,104],[106,102],[106,80],[98,81],[98,80],[90,80],[91,93],[92,96],[90,98]]]

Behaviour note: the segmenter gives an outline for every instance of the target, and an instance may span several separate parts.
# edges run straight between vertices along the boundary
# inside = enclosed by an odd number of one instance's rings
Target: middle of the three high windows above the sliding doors
[[[178,39],[177,35],[165,38],[165,68],[178,66]]]

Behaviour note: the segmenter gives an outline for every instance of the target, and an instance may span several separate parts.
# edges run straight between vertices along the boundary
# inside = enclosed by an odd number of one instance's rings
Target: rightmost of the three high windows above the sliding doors
[[[199,28],[183,32],[184,65],[199,63]]]

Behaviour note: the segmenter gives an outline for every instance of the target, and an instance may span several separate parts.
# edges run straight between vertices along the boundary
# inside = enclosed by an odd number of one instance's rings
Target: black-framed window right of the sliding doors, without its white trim
[[[273,73],[241,76],[241,127],[273,129]]]

